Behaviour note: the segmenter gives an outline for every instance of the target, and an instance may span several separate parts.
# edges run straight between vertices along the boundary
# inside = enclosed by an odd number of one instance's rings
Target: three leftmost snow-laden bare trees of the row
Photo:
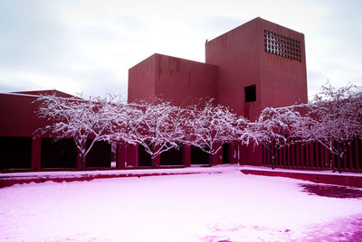
[[[127,104],[111,96],[89,99],[41,96],[37,101],[40,102],[38,116],[51,124],[38,132],[51,133],[56,138],[72,137],[81,155],[82,168],[98,141],[142,145],[152,159],[180,145],[195,145],[211,159],[222,144],[235,139],[240,122],[228,108],[213,105],[213,100],[203,102],[201,109],[176,107],[162,99]]]

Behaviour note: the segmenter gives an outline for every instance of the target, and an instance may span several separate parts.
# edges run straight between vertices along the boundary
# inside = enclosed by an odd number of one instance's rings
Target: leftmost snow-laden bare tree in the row
[[[47,118],[52,125],[45,126],[43,133],[49,132],[55,138],[72,137],[81,156],[81,169],[85,168],[85,158],[97,141],[109,141],[111,127],[110,98],[59,98],[41,96],[38,116]],[[90,145],[87,141],[91,139]]]

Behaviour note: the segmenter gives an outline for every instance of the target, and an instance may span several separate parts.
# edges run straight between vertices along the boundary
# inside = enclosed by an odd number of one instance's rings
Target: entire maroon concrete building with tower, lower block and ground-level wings
[[[71,137],[57,140],[36,134],[48,121],[36,116],[39,95],[71,98],[57,90],[0,94],[0,171],[81,169]],[[176,106],[197,104],[200,98],[231,107],[251,120],[265,107],[286,107],[307,102],[304,35],[255,18],[205,42],[205,63],[153,54],[129,69],[129,102],[164,98]],[[195,147],[170,150],[155,160],[139,145],[96,143],[86,158],[87,169],[190,166],[210,164]],[[356,139],[343,161],[345,171],[361,171],[362,144]],[[277,155],[276,166],[294,169],[329,169],[336,157],[318,143],[292,144]],[[223,144],[211,164],[271,165],[262,147]],[[112,165],[113,164],[113,165]]]

